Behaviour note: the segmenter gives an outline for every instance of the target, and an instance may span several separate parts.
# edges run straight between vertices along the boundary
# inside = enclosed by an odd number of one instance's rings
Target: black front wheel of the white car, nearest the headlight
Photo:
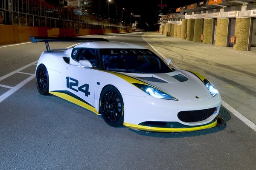
[[[121,93],[113,85],[102,90],[99,101],[99,110],[104,121],[113,127],[124,123],[124,102]]]

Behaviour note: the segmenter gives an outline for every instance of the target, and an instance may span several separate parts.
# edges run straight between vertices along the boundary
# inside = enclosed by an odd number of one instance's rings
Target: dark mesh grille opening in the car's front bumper
[[[178,118],[182,122],[199,122],[209,118],[217,110],[218,108],[216,107],[198,111],[180,111],[178,113]]]

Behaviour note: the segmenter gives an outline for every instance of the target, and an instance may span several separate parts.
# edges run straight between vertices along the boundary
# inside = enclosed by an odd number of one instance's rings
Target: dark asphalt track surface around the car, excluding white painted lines
[[[90,37],[153,51],[140,33]],[[72,44],[52,43],[51,48]],[[0,48],[0,77],[35,62],[44,50],[44,43]],[[0,85],[16,87],[33,76],[35,65],[20,72]],[[9,91],[6,87],[0,87],[0,95]],[[40,95],[32,79],[0,102],[0,170],[255,170],[256,132],[223,107],[220,115],[225,125],[190,133],[110,127],[84,108]]]

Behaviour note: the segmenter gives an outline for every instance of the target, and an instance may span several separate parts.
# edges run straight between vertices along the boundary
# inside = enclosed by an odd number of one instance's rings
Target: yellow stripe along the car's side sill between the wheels
[[[69,102],[75,103],[76,105],[79,105],[83,108],[86,108],[86,109],[92,111],[93,113],[96,113],[97,115],[99,115],[99,112],[96,110],[96,108],[93,108],[92,106],[87,105],[86,103],[84,103],[84,102],[80,101],[79,99],[76,99],[76,98],[74,98],[74,97],[72,97],[68,94],[64,94],[64,93],[61,93],[61,92],[54,92],[54,91],[50,91],[49,93],[53,94],[55,96],[58,96],[62,99],[65,99]]]

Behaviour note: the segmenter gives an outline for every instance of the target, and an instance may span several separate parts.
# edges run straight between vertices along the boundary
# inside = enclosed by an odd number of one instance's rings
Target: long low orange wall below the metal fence
[[[120,32],[126,32],[126,30],[79,29],[79,33],[76,34],[75,29],[71,28],[0,25],[0,45],[29,41],[29,36],[76,37],[91,34],[108,34]]]

